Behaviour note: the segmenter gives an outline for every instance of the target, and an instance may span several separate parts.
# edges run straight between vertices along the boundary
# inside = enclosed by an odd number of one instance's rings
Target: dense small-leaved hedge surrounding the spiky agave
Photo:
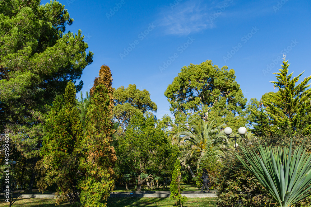
[[[308,152],[311,150],[311,145],[304,142],[305,137],[296,134],[293,137],[286,137],[284,135],[274,135],[269,138],[262,139],[248,139],[241,142],[242,146],[251,146],[252,151],[258,153],[255,146],[258,146],[258,142],[277,144],[279,146],[288,146],[288,143],[292,139],[293,148],[297,148],[299,144],[303,144],[304,148]],[[249,145],[252,143],[252,145]],[[240,158],[246,161],[244,153],[241,150],[235,151]],[[247,162],[247,161],[246,161]],[[217,198],[217,206],[219,207],[259,207],[259,206],[271,206],[276,207],[277,202],[266,191],[262,191],[263,186],[258,182],[256,177],[248,171],[239,161],[234,158],[223,162],[223,167],[220,169],[220,176],[218,176],[217,183],[219,184],[219,193]],[[256,186],[256,185],[257,186]],[[260,187],[258,187],[260,186]],[[311,198],[307,197],[298,201],[293,206],[295,207],[309,207]]]

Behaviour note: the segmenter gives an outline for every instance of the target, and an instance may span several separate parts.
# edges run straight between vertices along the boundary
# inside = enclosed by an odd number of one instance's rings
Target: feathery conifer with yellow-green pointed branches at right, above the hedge
[[[282,69],[280,72],[273,73],[277,81],[273,87],[278,87],[279,91],[276,93],[269,93],[268,98],[264,101],[270,122],[273,125],[274,131],[290,131],[295,132],[301,130],[302,133],[308,134],[311,125],[310,103],[311,97],[310,84],[308,84],[311,76],[304,78],[304,80],[295,86],[299,81],[299,77],[304,73],[300,73],[297,77],[292,78],[292,74],[288,74],[288,60],[283,59]],[[307,85],[308,84],[308,85]]]

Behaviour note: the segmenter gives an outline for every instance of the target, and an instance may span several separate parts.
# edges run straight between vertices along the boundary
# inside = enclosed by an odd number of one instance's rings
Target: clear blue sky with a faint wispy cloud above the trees
[[[83,93],[106,64],[114,88],[136,84],[150,92],[158,106],[157,118],[170,115],[164,92],[190,63],[209,59],[219,67],[233,68],[248,100],[274,91],[269,81],[275,80],[272,73],[281,68],[283,54],[294,76],[305,70],[299,82],[311,75],[307,0],[59,2],[74,19],[67,30],[81,29],[94,53],[94,62],[81,78]]]

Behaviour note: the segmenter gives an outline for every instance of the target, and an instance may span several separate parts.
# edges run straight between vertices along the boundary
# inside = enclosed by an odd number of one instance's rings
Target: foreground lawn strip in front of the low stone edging
[[[172,207],[174,200],[170,198],[137,198],[122,197],[109,198],[107,207]],[[0,206],[8,206],[4,199],[0,200]],[[12,205],[13,207],[55,207],[54,199],[40,198],[19,198]],[[216,198],[188,198],[185,207],[216,207]],[[68,202],[62,203],[59,207],[70,207]]]

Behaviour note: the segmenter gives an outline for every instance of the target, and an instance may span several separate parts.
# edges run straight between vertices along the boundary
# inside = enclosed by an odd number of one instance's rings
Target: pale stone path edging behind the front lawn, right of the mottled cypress
[[[182,191],[181,195],[184,195],[188,198],[206,198],[206,197],[217,197],[217,191],[211,191],[211,193],[207,193],[207,191],[203,191],[203,193],[199,193],[200,191]],[[125,192],[112,192],[110,193],[110,197],[169,197],[171,195],[170,191],[125,191]]]

